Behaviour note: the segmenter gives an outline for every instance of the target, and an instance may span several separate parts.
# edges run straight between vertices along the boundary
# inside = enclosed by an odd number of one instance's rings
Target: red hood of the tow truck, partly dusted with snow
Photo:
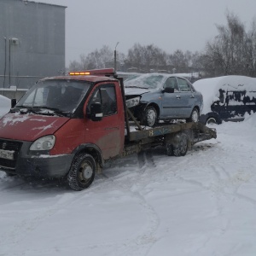
[[[34,141],[54,134],[68,120],[59,116],[8,113],[0,120],[0,138]]]

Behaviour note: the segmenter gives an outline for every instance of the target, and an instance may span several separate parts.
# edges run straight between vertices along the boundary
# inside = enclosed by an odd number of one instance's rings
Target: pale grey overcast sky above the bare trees
[[[108,45],[125,55],[134,44],[154,44],[168,54],[201,51],[237,15],[248,30],[256,0],[41,0],[67,6],[66,63]]]

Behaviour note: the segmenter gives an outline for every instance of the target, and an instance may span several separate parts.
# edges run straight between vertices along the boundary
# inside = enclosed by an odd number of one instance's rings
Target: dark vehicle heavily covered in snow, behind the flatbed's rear
[[[223,76],[201,79],[194,84],[204,98],[200,122],[221,124],[241,121],[245,114],[256,112],[256,79],[246,76]]]

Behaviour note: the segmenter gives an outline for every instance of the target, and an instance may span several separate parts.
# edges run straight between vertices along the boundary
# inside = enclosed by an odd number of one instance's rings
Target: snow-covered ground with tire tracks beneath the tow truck
[[[155,148],[90,189],[0,172],[1,256],[255,256],[256,114],[184,157]]]

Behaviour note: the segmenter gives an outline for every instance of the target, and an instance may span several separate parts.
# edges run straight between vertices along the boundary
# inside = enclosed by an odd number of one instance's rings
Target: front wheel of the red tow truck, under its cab
[[[68,172],[67,180],[73,190],[87,189],[93,182],[96,173],[96,162],[90,154],[78,154]]]

